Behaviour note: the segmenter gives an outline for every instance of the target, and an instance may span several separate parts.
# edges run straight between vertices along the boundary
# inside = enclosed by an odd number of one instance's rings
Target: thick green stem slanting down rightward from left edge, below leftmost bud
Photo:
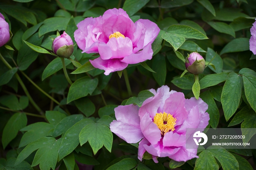
[[[3,63],[9,68],[12,69],[12,66],[4,59],[3,55],[1,55],[0,53],[0,58],[3,61]],[[19,81],[19,84],[21,85],[22,89],[24,90],[27,98],[29,98],[30,103],[35,107],[35,109],[37,109],[37,111],[41,114],[44,115],[44,112],[39,108],[39,106],[35,103],[35,101],[33,100],[33,98],[30,96],[29,91],[27,90],[26,86],[24,85],[23,81],[21,80],[21,78],[19,77],[18,73],[15,73],[15,77],[17,78],[17,80]]]

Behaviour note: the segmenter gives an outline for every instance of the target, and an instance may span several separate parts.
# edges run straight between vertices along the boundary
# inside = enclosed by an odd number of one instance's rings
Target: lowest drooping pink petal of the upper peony
[[[103,59],[101,59],[101,57],[98,57],[94,60],[90,60],[90,62],[95,68],[105,70],[104,74],[106,76],[109,75],[109,73],[111,73],[111,72],[121,71],[128,66],[127,63],[123,63],[123,62],[119,61],[119,59],[103,60]]]

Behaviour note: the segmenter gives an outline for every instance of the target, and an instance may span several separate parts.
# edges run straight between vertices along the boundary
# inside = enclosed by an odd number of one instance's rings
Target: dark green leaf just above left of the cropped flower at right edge
[[[234,21],[231,22],[229,25],[234,29],[234,31],[240,31],[245,28],[251,28],[254,22],[255,19],[239,17],[237,19],[234,19]]]

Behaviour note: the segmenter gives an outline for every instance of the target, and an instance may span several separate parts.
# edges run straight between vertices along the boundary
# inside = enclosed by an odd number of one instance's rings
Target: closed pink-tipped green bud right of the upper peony
[[[204,71],[205,60],[200,54],[193,52],[186,58],[185,66],[189,73],[201,74]]]

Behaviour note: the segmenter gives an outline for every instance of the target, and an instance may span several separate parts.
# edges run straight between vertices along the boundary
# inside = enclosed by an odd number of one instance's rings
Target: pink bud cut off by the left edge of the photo
[[[10,39],[9,24],[0,13],[0,47],[5,45]]]

